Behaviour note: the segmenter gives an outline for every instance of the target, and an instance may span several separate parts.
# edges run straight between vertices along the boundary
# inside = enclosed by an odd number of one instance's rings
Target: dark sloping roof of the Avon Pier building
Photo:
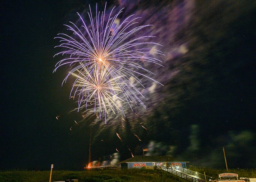
[[[174,162],[173,159],[170,156],[164,155],[164,156],[134,156],[133,158],[129,158],[126,160],[123,160],[119,162],[121,163],[127,163],[127,162]],[[181,162],[181,161],[179,161]]]

